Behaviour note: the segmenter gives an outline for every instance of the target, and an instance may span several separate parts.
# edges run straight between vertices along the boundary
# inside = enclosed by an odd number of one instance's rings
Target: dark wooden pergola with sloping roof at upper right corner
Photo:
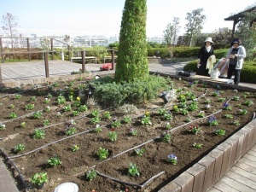
[[[232,29],[232,34],[231,34],[231,38],[234,38],[234,33],[235,33],[235,29],[236,29],[236,24],[244,17],[244,15],[246,13],[255,13],[256,15],[256,6],[253,6],[250,9],[247,9],[245,11],[242,11],[236,15],[231,15],[228,18],[225,18],[224,20],[233,20],[233,29]],[[256,17],[250,21],[250,26],[253,26],[253,22],[256,22]]]

